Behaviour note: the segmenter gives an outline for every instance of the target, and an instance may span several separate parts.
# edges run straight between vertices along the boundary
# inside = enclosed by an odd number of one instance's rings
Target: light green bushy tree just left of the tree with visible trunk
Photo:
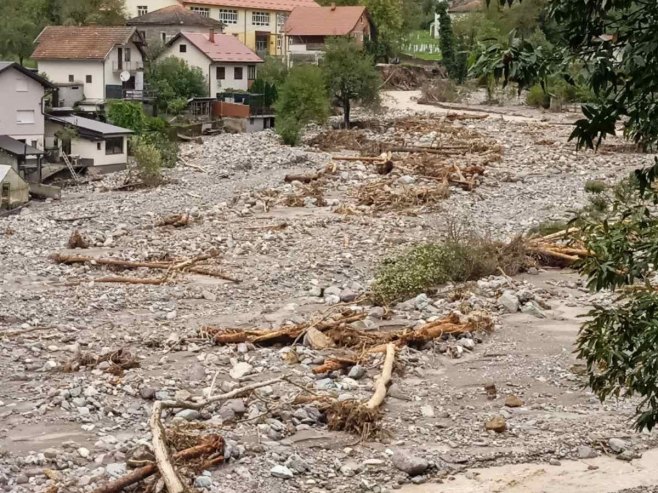
[[[329,116],[329,96],[322,70],[315,65],[294,66],[280,87],[274,108],[277,132],[288,145],[299,142],[304,125],[324,123]]]

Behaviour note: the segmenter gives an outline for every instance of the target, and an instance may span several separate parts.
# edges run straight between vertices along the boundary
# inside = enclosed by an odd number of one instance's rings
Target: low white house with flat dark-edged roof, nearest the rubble
[[[46,148],[66,154],[77,167],[98,173],[126,168],[132,134],[132,130],[79,116],[46,118]]]

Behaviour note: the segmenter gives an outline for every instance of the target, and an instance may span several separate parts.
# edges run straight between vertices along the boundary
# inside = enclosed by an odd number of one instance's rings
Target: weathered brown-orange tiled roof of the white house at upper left
[[[105,60],[135,34],[126,26],[47,26],[36,39],[35,60]]]

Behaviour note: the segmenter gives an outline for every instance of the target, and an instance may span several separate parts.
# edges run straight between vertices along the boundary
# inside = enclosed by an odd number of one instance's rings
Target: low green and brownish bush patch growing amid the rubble
[[[371,292],[375,303],[403,301],[448,282],[465,282],[500,273],[514,275],[528,267],[519,238],[508,244],[475,236],[423,243],[384,259]]]

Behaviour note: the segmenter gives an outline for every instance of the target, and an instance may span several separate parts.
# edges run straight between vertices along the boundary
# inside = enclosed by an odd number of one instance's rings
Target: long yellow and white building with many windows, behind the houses
[[[314,0],[126,0],[126,9],[137,16],[176,4],[220,21],[224,33],[237,36],[261,57],[285,53],[283,26],[295,7],[318,6]]]

